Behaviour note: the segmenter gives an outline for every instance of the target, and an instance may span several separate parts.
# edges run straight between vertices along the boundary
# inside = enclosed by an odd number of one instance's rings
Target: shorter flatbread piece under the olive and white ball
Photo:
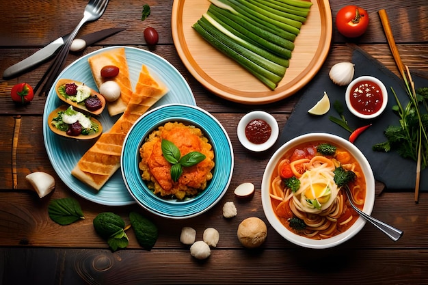
[[[116,101],[108,102],[107,110],[110,116],[123,113],[133,94],[133,88],[129,80],[129,68],[126,62],[125,49],[120,47],[117,49],[109,49],[103,53],[97,53],[88,58],[88,63],[98,90],[105,81],[112,80],[118,83],[121,91],[120,97]],[[104,66],[117,66],[119,68],[119,74],[112,79],[101,77],[101,69],[103,69]]]

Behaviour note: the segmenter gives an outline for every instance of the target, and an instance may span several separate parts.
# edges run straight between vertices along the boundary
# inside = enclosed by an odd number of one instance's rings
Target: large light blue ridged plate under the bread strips
[[[92,73],[88,64],[88,57],[91,57],[96,53],[101,53],[109,49],[116,49],[118,47],[119,46],[111,46],[106,49],[100,49],[77,59],[77,61],[70,64],[70,66],[65,68],[61,74],[59,74],[58,79],[67,78],[81,81],[96,90],[96,84],[94,83],[94,79],[92,79]],[[138,81],[142,64],[146,64],[150,74],[152,74],[153,77],[160,79],[168,87],[168,94],[163,96],[163,98],[161,98],[154,107],[171,103],[196,105],[195,98],[193,97],[193,93],[191,92],[189,85],[180,72],[172,66],[172,64],[150,51],[144,51],[142,49],[127,46],[124,48],[133,87],[135,87],[135,84]],[[53,83],[53,86],[55,86],[56,83],[57,81]],[[79,161],[86,150],[94,144],[94,141],[68,139],[66,137],[56,135],[49,129],[49,123],[47,122],[49,113],[59,107],[59,105],[62,105],[62,101],[59,100],[55,94],[54,88],[51,88],[49,95],[46,98],[46,105],[44,106],[43,137],[46,152],[53,165],[53,169],[55,169],[59,178],[61,178],[61,180],[70,187],[72,191],[75,191],[75,193],[81,195],[81,197],[98,204],[122,206],[135,203],[133,197],[128,191],[126,191],[120,171],[117,171],[100,191],[96,191],[91,187],[88,187],[71,175],[71,170],[75,167],[77,161]],[[104,131],[108,131],[118,118],[119,116],[110,117],[106,108],[101,116],[98,117],[98,120],[103,124]]]

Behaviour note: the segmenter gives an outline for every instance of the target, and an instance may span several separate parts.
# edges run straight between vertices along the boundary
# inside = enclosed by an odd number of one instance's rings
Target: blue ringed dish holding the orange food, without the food
[[[148,134],[167,122],[183,122],[200,128],[213,146],[213,179],[195,198],[183,201],[161,198],[142,180],[139,148]],[[204,213],[223,197],[232,178],[234,158],[228,134],[216,118],[199,107],[174,104],[152,109],[133,124],[124,140],[120,164],[125,185],[138,204],[161,217],[186,219]]]

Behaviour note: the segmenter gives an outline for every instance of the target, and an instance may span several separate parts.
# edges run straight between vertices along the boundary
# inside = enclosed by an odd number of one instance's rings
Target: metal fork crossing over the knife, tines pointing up
[[[81,19],[79,24],[75,27],[75,29],[70,33],[70,36],[67,38],[66,42],[64,42],[62,49],[56,55],[51,66],[49,66],[48,70],[46,70],[46,72],[43,74],[42,79],[40,79],[40,81],[34,88],[34,93],[38,92],[38,89],[40,88],[40,86],[42,86],[46,78],[47,78],[46,82],[44,83],[42,89],[40,90],[39,96],[41,94],[46,95],[46,92],[49,92],[49,89],[53,85],[53,81],[55,81],[55,79],[59,75],[59,72],[64,67],[68,52],[70,51],[72,40],[74,40],[74,38],[76,37],[77,33],[79,32],[79,29],[85,23],[98,20],[98,18],[103,16],[105,8],[107,8],[108,3],[109,3],[109,0],[90,0],[89,1],[88,5],[86,5],[85,7],[83,18]]]

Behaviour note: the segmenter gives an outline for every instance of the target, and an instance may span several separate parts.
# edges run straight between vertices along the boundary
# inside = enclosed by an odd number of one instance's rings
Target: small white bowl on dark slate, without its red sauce
[[[351,92],[353,90],[353,87],[355,85],[357,85],[358,83],[362,83],[363,81],[371,81],[371,82],[377,84],[380,87],[380,90],[382,92],[382,99],[383,99],[382,105],[381,105],[380,109],[377,110],[375,113],[371,113],[371,114],[360,113],[360,111],[356,110],[351,105]],[[346,105],[347,105],[349,111],[351,111],[351,113],[353,113],[353,115],[357,116],[358,118],[369,120],[369,119],[376,118],[385,110],[386,104],[388,104],[388,91],[386,90],[384,83],[382,83],[382,81],[380,81],[379,79],[377,79],[375,77],[371,77],[371,76],[362,76],[362,77],[358,77],[356,79],[353,79],[353,81],[351,83],[349,83],[347,90],[346,90],[346,93],[345,93],[345,101],[346,101]]]

